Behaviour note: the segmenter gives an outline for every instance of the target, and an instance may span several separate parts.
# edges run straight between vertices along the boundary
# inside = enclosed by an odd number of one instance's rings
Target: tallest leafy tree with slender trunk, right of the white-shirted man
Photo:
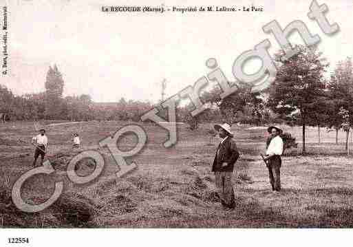
[[[312,125],[312,114],[317,112],[317,100],[325,96],[323,63],[321,52],[315,47],[296,45],[299,51],[286,61],[281,58],[283,51],[275,54],[278,70],[275,81],[270,86],[268,107],[280,116],[299,113],[299,123],[303,128],[303,153],[306,152],[306,126]]]

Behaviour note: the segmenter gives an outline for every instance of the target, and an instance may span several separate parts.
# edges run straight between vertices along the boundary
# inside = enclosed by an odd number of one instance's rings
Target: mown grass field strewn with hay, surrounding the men
[[[49,123],[49,122],[47,122]],[[43,124],[43,123],[42,123]],[[98,141],[115,133],[126,122],[78,122],[47,128],[50,140],[48,157],[56,172],[36,175],[23,186],[22,196],[30,204],[41,203],[54,191],[54,182],[63,180],[63,195],[39,213],[23,213],[12,204],[12,184],[32,169],[36,134],[31,122],[0,125],[0,224],[3,227],[198,227],[198,228],[306,228],[353,226],[353,157],[344,151],[345,134],[307,129],[308,154],[301,155],[301,128],[286,127],[299,142],[298,150],[288,150],[282,158],[283,191],[272,193],[268,172],[259,159],[264,153],[266,129],[234,127],[241,156],[235,165],[234,189],[237,206],[224,211],[215,193],[211,162],[219,138],[209,142],[212,125],[190,131],[178,126],[178,144],[165,149],[167,131],[143,123],[147,146],[133,158],[138,169],[116,180],[118,171],[107,149],[105,169],[89,184],[73,184],[65,169],[69,159],[80,150],[98,149]],[[80,150],[71,149],[71,134],[78,132]],[[136,137],[118,140],[121,150],[134,147]],[[79,175],[92,173],[94,167],[83,164]]]

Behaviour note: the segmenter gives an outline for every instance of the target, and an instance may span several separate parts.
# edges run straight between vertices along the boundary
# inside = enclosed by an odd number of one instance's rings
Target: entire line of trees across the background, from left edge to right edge
[[[200,122],[235,122],[250,125],[285,123],[303,129],[303,153],[306,152],[306,127],[334,129],[336,142],[340,129],[346,133],[345,149],[353,126],[353,65],[350,57],[339,61],[330,78],[324,76],[329,67],[317,47],[295,45],[299,52],[284,60],[283,50],[274,54],[277,65],[275,81],[263,92],[253,92],[239,83],[238,90],[224,99],[215,86],[201,93],[209,109],[195,117],[189,113],[193,105],[177,109],[177,121],[197,129]],[[117,103],[94,103],[87,94],[63,97],[64,80],[58,67],[50,67],[45,79],[45,92],[15,96],[0,85],[0,113],[12,120],[124,120],[140,121],[140,116],[153,104],[121,98]],[[167,119],[166,112],[160,112]]]

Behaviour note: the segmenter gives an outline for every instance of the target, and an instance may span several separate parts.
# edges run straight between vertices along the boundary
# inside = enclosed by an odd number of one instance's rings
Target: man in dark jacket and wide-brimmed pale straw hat
[[[215,173],[215,186],[224,208],[235,207],[235,197],[233,190],[233,170],[234,164],[239,158],[237,145],[233,140],[231,125],[215,125],[215,130],[222,138],[217,147],[215,158],[212,164],[212,171]]]

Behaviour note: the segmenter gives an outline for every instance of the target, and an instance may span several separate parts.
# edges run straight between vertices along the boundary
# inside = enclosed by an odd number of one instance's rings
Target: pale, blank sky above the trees
[[[1,2],[2,1],[2,2]],[[102,6],[259,6],[264,12],[124,13],[102,12]],[[14,94],[43,92],[45,75],[56,64],[65,81],[64,95],[89,94],[96,102],[120,98],[156,102],[161,82],[167,96],[177,94],[211,72],[216,58],[229,80],[240,54],[268,39],[273,54],[279,45],[262,27],[277,20],[282,28],[301,20],[321,38],[319,50],[331,66],[353,54],[353,1],[321,1],[326,17],[340,31],[325,35],[307,17],[311,1],[118,1],[118,0],[0,0],[8,6],[10,72],[0,84]],[[303,43],[298,34],[292,43]],[[246,67],[254,73],[261,62]],[[211,86],[211,85],[210,85]]]

